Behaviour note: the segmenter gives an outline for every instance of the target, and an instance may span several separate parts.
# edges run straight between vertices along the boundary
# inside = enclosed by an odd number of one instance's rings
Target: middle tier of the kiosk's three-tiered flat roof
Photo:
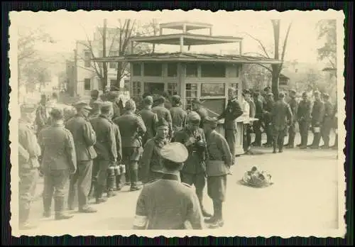
[[[239,37],[195,35],[191,33],[177,33],[159,36],[133,37],[130,40],[141,43],[153,43],[163,45],[180,45],[180,38],[184,39],[184,45],[213,45],[223,43],[236,43],[243,40]]]

